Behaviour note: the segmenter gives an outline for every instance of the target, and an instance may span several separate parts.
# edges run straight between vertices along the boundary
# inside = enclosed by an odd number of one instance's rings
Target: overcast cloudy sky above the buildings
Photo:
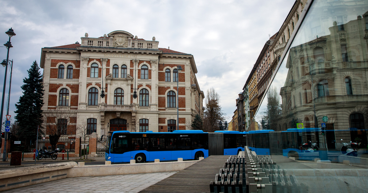
[[[0,0],[0,45],[13,28],[9,58],[14,60],[10,115],[22,95],[22,79],[42,47],[81,42],[89,37],[124,30],[138,38],[159,41],[159,47],[192,54],[197,79],[206,93],[214,87],[231,120],[237,94],[269,35],[281,27],[295,0]],[[2,35],[1,35],[2,34]],[[6,59],[0,47],[0,60]],[[0,68],[0,92],[5,68]],[[7,104],[8,72],[5,104]],[[4,106],[4,115],[6,105]]]

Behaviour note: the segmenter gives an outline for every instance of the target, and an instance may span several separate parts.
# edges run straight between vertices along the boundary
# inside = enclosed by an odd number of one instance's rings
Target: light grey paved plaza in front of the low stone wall
[[[1,193],[137,193],[176,172],[64,178]]]

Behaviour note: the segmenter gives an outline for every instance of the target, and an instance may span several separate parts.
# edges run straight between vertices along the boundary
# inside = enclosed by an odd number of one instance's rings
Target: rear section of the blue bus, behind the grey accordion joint
[[[238,131],[215,131],[215,133],[224,134],[224,156],[238,155],[240,151],[244,151],[245,133]]]

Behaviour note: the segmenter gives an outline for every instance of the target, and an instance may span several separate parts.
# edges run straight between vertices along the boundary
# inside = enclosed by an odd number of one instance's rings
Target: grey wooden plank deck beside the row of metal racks
[[[209,193],[209,182],[230,156],[209,156],[139,193]]]

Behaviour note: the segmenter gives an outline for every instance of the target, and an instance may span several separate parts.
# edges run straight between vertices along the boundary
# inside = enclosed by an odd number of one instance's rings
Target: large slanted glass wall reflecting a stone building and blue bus
[[[285,169],[270,170],[276,184],[294,175],[307,192],[367,192],[368,1],[308,2],[253,119],[269,131],[247,144]]]

